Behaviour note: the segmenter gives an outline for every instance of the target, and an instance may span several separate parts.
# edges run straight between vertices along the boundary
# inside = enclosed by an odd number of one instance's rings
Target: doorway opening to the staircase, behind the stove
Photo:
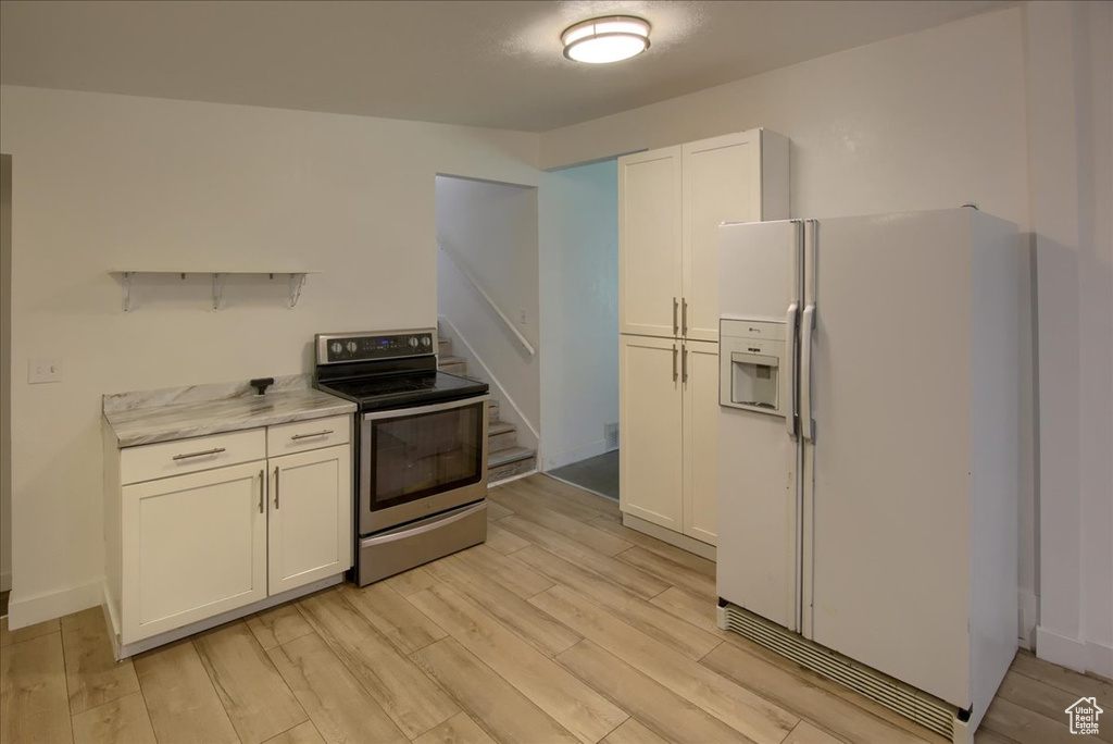
[[[439,366],[486,382],[491,484],[536,472],[538,188],[436,176]]]

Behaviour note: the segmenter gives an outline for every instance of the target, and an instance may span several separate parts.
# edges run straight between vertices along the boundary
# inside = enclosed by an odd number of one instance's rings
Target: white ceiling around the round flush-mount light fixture
[[[546,131],[1011,4],[4,0],[0,81]],[[564,28],[618,12],[649,52],[564,59]]]

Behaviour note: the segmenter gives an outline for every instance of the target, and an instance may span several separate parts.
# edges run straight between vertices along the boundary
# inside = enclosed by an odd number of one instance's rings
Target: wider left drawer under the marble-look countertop
[[[267,442],[263,429],[130,447],[120,451],[120,482],[138,483],[266,457]]]

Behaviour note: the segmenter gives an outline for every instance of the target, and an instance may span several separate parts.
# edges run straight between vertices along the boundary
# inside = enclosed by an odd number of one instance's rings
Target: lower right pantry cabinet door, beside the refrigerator
[[[718,533],[719,344],[684,344],[684,535],[716,545]]]

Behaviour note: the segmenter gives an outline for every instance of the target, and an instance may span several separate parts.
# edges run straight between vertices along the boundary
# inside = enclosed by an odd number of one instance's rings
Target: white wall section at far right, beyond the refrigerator
[[[1038,258],[1037,652],[1113,676],[1113,8],[1027,7]]]

